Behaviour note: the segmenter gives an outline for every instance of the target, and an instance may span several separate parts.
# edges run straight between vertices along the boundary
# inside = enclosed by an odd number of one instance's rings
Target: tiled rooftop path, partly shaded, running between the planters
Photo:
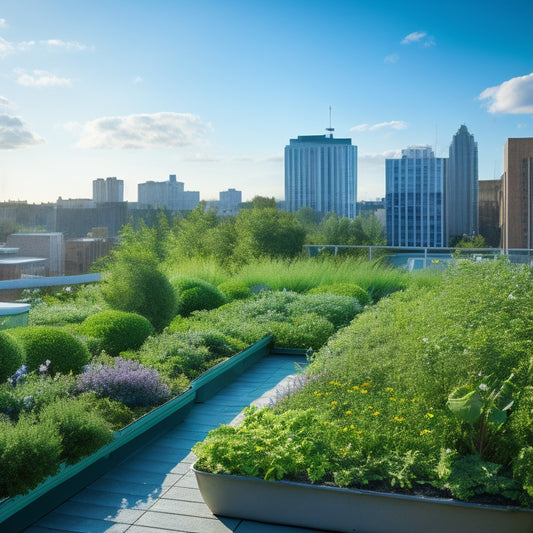
[[[25,530],[26,533],[304,533],[309,530],[217,517],[190,470],[191,447],[250,404],[263,406],[295,387],[305,357],[269,355],[176,427],[136,451]]]

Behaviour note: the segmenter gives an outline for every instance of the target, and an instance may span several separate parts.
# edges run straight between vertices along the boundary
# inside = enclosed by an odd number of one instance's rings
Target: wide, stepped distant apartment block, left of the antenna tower
[[[185,191],[185,185],[171,174],[168,181],[147,181],[137,186],[141,205],[173,211],[191,211],[200,203],[198,191]]]

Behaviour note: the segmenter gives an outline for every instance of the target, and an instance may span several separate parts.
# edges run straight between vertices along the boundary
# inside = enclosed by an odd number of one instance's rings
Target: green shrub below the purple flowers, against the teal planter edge
[[[41,423],[55,426],[61,436],[61,459],[74,464],[113,440],[104,418],[88,409],[83,398],[61,399],[40,413]]]

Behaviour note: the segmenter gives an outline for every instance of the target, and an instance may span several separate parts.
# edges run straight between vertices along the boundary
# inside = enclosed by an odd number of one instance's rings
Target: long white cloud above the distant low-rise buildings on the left
[[[189,113],[103,117],[83,126],[78,146],[111,150],[181,148],[202,144],[207,130],[200,117]]]

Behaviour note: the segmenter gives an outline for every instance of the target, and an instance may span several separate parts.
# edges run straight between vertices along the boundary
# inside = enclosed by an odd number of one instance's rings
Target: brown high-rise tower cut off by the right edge
[[[533,138],[507,139],[503,151],[501,248],[533,248]]]

